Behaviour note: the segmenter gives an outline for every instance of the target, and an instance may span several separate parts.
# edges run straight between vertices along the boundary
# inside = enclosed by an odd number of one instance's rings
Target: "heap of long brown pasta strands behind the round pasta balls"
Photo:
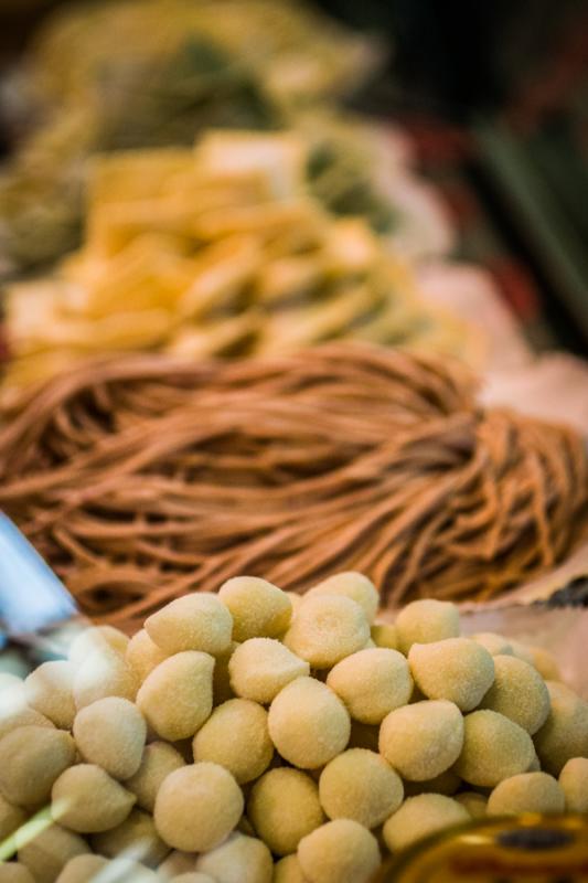
[[[330,344],[94,362],[0,432],[0,507],[97,621],[132,630],[240,573],[357,570],[384,604],[488,599],[586,529],[571,429],[475,402],[457,361]]]

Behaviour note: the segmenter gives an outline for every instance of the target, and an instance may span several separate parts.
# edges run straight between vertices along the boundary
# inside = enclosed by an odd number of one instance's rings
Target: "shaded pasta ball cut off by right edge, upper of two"
[[[558,776],[573,757],[588,757],[588,702],[559,683],[547,684],[552,709],[535,733],[542,766]]]

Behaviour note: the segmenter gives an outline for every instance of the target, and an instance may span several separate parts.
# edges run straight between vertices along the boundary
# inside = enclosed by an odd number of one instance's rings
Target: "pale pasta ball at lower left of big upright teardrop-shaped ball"
[[[115,779],[128,779],[141,764],[147,724],[128,699],[107,696],[78,711],[74,738],[84,760]]]

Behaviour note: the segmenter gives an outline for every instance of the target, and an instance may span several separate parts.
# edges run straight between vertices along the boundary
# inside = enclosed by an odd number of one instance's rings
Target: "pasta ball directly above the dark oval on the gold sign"
[[[563,812],[564,790],[547,773],[521,773],[503,779],[488,798],[489,816],[518,816],[521,812]]]

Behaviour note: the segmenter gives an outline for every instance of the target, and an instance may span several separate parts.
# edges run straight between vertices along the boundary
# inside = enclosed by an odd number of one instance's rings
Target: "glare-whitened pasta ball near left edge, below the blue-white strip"
[[[24,681],[26,702],[60,730],[71,730],[75,717],[74,667],[65,660],[43,662]]]

